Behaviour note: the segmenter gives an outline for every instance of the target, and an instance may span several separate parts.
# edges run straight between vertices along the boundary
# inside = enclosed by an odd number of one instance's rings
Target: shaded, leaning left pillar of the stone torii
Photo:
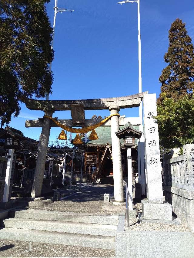
[[[55,112],[53,110],[44,110],[44,111],[45,111],[45,116],[52,116],[52,114]],[[31,195],[33,198],[41,196],[42,180],[43,180],[44,171],[45,171],[45,162],[46,162],[46,155],[47,155],[48,144],[49,144],[50,129],[51,129],[50,119],[44,118],[43,125],[42,125],[42,132],[39,139],[38,156],[36,161],[36,168],[35,168],[35,174],[34,174],[32,192],[31,192]]]

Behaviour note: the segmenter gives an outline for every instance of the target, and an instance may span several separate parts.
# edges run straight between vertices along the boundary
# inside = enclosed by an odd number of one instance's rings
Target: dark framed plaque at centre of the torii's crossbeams
[[[71,116],[73,125],[85,125],[85,112],[82,104],[71,105]]]

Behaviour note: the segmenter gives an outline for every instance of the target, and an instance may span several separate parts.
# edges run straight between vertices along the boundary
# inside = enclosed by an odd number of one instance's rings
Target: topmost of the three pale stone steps
[[[62,212],[62,211],[41,211],[41,210],[21,210],[15,209],[9,211],[9,217],[31,218],[39,220],[58,220],[83,222],[93,224],[118,225],[119,215],[103,215],[90,213]]]

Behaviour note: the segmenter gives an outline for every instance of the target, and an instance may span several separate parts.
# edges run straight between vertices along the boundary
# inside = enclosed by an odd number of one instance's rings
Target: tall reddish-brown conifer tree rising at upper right
[[[159,78],[161,93],[166,93],[166,97],[175,101],[186,95],[191,97],[194,87],[193,44],[185,23],[180,19],[176,19],[169,30],[169,48],[164,60],[168,66],[162,70]],[[161,94],[158,103],[162,104]]]

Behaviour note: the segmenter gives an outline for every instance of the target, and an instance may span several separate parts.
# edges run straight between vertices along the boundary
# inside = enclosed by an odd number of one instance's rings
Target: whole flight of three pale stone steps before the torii
[[[0,216],[0,239],[115,250],[118,215],[15,209]]]

